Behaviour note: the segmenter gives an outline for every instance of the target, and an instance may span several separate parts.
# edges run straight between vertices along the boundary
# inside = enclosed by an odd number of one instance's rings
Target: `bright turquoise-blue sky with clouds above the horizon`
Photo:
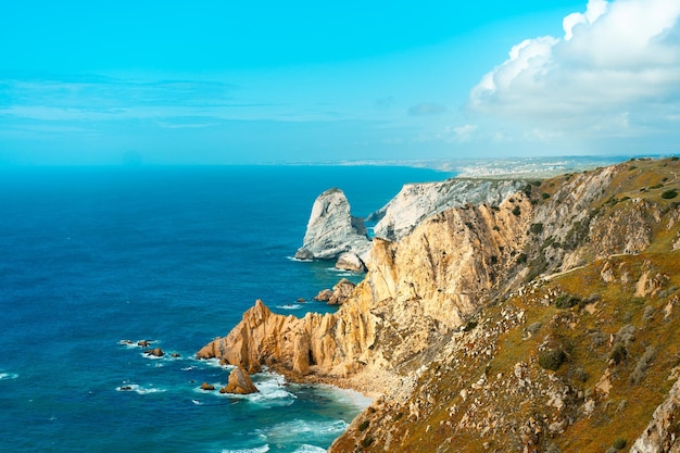
[[[680,1],[8,1],[0,164],[680,154]]]

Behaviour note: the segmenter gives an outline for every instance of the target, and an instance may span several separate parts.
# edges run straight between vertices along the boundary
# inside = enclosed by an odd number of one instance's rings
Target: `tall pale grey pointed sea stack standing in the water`
[[[370,240],[364,221],[352,216],[350,203],[340,189],[329,189],[312,206],[299,260],[336,260],[352,254],[362,265],[368,260]],[[344,262],[349,261],[345,256]]]

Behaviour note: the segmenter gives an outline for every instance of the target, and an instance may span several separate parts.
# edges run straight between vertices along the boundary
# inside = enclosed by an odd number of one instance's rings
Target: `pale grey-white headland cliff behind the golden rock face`
[[[395,241],[435,214],[466,204],[498,206],[526,186],[527,183],[521,180],[465,178],[407,184],[368,219],[379,221],[374,228],[376,237]]]

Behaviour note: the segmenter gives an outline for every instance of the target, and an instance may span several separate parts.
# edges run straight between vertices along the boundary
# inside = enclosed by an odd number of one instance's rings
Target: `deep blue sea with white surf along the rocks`
[[[343,275],[291,260],[316,196],[367,215],[404,183],[448,175],[362,166],[0,169],[0,451],[314,452],[366,404],[351,392],[193,360],[255,299],[275,312]],[[355,281],[361,275],[351,275]],[[153,340],[179,358],[144,357]],[[131,391],[121,391],[130,387]]]

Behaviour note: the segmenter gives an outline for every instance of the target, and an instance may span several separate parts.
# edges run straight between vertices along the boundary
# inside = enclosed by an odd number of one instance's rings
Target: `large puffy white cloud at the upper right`
[[[590,0],[564,18],[563,37],[513,47],[468,108],[528,123],[542,139],[668,131],[680,103],[679,17],[678,0]]]

